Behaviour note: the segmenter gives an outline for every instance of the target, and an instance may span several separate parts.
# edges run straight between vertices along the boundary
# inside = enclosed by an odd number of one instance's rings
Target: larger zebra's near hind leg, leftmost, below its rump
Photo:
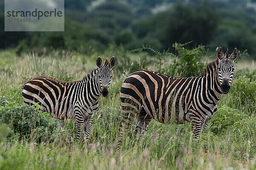
[[[129,130],[132,122],[134,121],[137,111],[133,107],[124,106],[122,103],[122,122],[118,131],[117,148],[120,148],[124,135]]]

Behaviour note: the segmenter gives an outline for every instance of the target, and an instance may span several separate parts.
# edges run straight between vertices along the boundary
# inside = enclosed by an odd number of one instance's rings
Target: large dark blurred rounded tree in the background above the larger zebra
[[[209,8],[191,8],[182,5],[175,6],[172,18],[162,38],[165,48],[174,41],[209,44],[219,20],[218,14]],[[192,45],[189,44],[190,47]]]

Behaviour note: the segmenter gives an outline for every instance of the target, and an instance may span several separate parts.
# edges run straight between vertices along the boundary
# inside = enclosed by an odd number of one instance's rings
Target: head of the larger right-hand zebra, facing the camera
[[[238,57],[238,51],[235,48],[232,51],[231,56],[228,55],[227,52],[224,54],[223,49],[221,47],[218,48],[217,51],[218,57],[218,81],[221,85],[221,90],[223,94],[227,94],[230,90],[230,86],[233,82],[233,74],[234,74],[234,60]]]

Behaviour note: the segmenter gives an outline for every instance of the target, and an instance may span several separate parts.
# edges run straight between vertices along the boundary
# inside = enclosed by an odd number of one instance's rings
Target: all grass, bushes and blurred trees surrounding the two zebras
[[[65,0],[65,31],[4,31],[0,1],[0,170],[256,169],[256,0]],[[186,44],[180,44],[185,43]],[[135,140],[136,121],[116,148],[119,91],[134,71],[199,76],[215,49],[238,48],[230,92],[198,142],[191,124],[151,121]],[[231,51],[230,51],[231,52]],[[91,139],[76,141],[74,120],[23,103],[36,76],[74,81],[116,57],[107,98],[99,99]]]

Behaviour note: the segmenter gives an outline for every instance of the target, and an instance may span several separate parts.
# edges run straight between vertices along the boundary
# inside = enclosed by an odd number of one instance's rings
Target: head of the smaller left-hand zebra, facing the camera
[[[103,97],[108,97],[108,89],[112,77],[112,68],[116,65],[116,58],[111,57],[110,61],[106,58],[102,63],[102,59],[98,57],[96,59],[96,65],[99,67],[98,82],[99,88]]]

